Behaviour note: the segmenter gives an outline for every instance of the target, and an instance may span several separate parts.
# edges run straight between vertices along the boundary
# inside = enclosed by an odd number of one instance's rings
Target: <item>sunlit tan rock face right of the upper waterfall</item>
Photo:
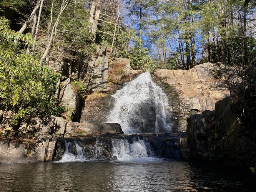
[[[214,110],[215,103],[228,95],[225,81],[233,74],[230,66],[204,63],[184,70],[156,70],[154,76],[168,94],[173,111],[173,129],[186,131],[186,119],[193,111]]]

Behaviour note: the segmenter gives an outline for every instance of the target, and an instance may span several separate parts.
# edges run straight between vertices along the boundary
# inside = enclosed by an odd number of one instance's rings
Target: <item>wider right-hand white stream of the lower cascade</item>
[[[112,138],[111,141],[113,156],[116,156],[118,160],[146,159],[154,156],[151,144],[145,137],[135,138],[132,143],[129,143],[127,139]]]

